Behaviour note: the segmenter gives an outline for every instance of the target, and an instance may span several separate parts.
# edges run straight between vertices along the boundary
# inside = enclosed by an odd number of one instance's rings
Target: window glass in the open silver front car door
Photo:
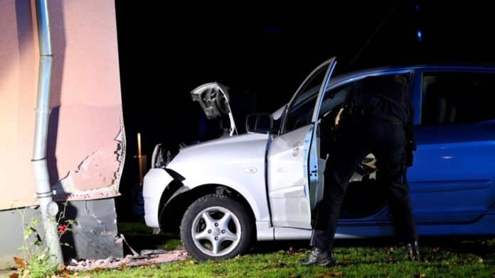
[[[322,67],[319,72],[313,75],[306,84],[303,85],[299,94],[290,104],[284,124],[284,133],[296,130],[302,126],[307,126],[312,121],[316,98],[318,97],[321,83],[328,67]]]

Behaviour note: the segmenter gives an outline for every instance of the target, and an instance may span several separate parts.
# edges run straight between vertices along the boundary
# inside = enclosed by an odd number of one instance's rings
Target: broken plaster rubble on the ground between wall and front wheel
[[[118,268],[122,265],[137,267],[139,265],[156,265],[164,262],[176,262],[186,260],[189,257],[186,250],[168,251],[164,254],[151,255],[127,255],[125,257],[108,257],[101,260],[71,260],[67,269],[70,271],[90,271],[95,268]]]

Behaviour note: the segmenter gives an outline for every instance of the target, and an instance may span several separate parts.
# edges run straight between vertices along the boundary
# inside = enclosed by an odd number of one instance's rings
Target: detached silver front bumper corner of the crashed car
[[[154,168],[144,176],[144,221],[151,228],[160,228],[159,206],[161,194],[174,179],[164,169]]]

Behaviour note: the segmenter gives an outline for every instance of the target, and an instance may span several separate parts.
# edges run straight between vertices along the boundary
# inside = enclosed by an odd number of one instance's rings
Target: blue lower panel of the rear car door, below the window
[[[409,170],[417,223],[472,222],[495,200],[495,121],[416,128]]]

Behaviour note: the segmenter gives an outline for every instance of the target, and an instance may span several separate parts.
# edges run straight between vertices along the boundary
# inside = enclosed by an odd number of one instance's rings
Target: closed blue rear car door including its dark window
[[[416,77],[420,125],[408,172],[415,221],[477,221],[495,200],[495,74],[435,70]]]

